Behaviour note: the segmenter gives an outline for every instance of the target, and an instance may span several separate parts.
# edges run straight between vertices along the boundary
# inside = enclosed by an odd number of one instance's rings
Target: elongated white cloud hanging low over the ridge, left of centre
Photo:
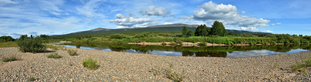
[[[126,27],[132,27],[137,24],[152,23],[154,21],[151,18],[136,18],[132,15],[123,16],[122,14],[117,14],[114,18],[116,19],[110,19],[109,22]]]

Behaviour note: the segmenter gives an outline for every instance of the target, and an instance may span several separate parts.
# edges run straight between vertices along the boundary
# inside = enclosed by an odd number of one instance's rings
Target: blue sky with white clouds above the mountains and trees
[[[211,24],[311,35],[311,0],[0,0],[0,36],[59,35],[94,28]]]

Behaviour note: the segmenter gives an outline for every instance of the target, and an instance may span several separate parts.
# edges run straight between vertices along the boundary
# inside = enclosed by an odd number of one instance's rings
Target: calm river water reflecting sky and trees
[[[89,50],[117,51],[141,54],[159,54],[169,56],[196,57],[251,57],[283,53],[296,53],[311,50],[310,44],[295,45],[251,45],[251,46],[160,46],[160,45],[127,45],[97,43],[51,43],[72,48]]]

